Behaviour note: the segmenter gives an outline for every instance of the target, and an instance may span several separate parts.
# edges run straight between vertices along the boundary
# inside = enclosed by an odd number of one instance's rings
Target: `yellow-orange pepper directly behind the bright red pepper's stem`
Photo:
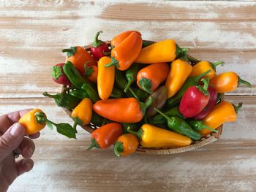
[[[206,72],[207,70],[210,70],[208,74],[204,75],[203,77],[209,77],[209,80],[211,80],[216,75],[216,66],[223,65],[224,61],[218,61],[216,63],[210,63],[208,61],[200,61],[197,64],[193,66],[192,72],[189,75],[189,77],[196,77],[203,72]]]

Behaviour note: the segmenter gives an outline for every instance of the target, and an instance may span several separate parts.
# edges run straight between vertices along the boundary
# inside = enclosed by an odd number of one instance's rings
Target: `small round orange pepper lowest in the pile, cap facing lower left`
[[[133,134],[123,134],[118,137],[114,152],[118,157],[125,157],[135,152],[139,145],[138,138]]]

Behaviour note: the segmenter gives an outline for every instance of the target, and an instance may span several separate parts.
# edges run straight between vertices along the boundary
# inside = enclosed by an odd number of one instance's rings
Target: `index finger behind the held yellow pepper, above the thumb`
[[[0,133],[4,134],[10,126],[17,123],[20,118],[32,109],[20,110],[16,112],[10,112],[0,116]]]

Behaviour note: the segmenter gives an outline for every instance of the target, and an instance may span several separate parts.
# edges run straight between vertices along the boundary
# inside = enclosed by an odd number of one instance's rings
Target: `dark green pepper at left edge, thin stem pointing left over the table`
[[[56,95],[50,95],[47,92],[42,93],[44,96],[53,98],[59,107],[65,107],[68,110],[74,110],[80,102],[80,99],[75,96],[71,96],[68,93],[58,93]]]

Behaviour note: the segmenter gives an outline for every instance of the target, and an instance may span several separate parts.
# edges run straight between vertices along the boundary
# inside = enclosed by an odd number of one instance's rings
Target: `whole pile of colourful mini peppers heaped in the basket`
[[[97,126],[91,146],[114,145],[117,156],[142,147],[183,147],[206,137],[225,122],[235,121],[238,105],[221,94],[249,82],[236,72],[216,74],[223,61],[198,61],[173,39],[143,40],[125,31],[110,41],[98,39],[91,50],[70,47],[63,64],[53,66],[53,80],[67,85],[50,95],[71,110],[76,126]]]

